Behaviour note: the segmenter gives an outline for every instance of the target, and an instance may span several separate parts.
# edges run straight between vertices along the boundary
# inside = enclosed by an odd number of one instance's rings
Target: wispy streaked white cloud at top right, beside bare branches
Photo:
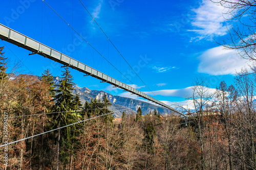
[[[216,3],[212,3],[209,0],[203,0],[199,8],[193,9],[196,16],[191,25],[196,29],[188,31],[200,34],[201,36],[196,37],[199,39],[227,34],[224,24],[225,18],[222,16],[223,10],[224,7],[217,6]],[[195,37],[192,39],[195,39]]]

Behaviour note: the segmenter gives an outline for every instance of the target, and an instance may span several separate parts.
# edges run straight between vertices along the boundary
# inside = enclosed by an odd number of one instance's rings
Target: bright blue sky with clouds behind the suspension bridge
[[[117,80],[139,87],[156,98],[78,0],[45,2],[132,82],[98,55],[42,1],[1,2],[0,23]],[[122,56],[157,95],[156,99],[166,104],[184,103],[184,97],[190,94],[190,86],[196,77],[208,77],[209,88],[216,88],[223,80],[231,84],[236,71],[248,67],[249,63],[240,59],[236,51],[223,50],[216,43],[226,39],[230,26],[222,16],[223,8],[210,1],[81,2]],[[20,70],[23,73],[40,76],[49,68],[54,76],[61,75],[61,64],[39,55],[28,56],[31,52],[0,41],[0,46],[3,45],[6,46],[4,51],[10,60],[10,67],[14,61],[21,61]],[[95,78],[83,77],[76,70],[72,70],[72,75],[77,86],[136,98],[129,92],[99,83]]]

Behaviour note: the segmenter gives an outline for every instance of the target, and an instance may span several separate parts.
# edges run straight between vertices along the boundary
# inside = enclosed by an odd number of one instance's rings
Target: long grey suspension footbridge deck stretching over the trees
[[[10,42],[12,44],[15,44],[19,47],[25,48],[28,51],[31,51],[32,54],[30,54],[30,55],[37,54],[37,55],[46,57],[55,62],[61,63],[64,66],[71,67],[80,72],[83,72],[84,74],[86,74],[84,76],[92,76],[96,79],[101,80],[102,82],[109,83],[109,84],[113,85],[114,87],[121,88],[124,91],[129,91],[133,94],[136,94],[139,97],[142,97],[143,99],[151,101],[151,102],[153,102],[157,105],[160,105],[162,107],[165,107],[174,113],[178,113],[182,116],[186,116],[186,115],[182,114],[180,111],[174,109],[173,107],[170,107],[170,106],[164,104],[163,102],[152,98],[150,95],[147,95],[147,94],[145,94],[145,93],[143,93],[125,83],[122,83],[121,81],[118,81],[118,80],[104,74],[103,72],[100,72],[82,62],[79,62],[65,54],[62,54],[45,44],[42,44],[30,37],[27,37],[26,35],[23,35],[15,30],[12,30],[12,29],[2,25],[1,23],[0,23],[0,39]]]

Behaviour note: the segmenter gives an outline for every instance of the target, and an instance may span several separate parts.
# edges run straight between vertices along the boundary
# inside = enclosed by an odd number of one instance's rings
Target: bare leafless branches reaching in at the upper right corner
[[[256,61],[256,2],[254,0],[211,0],[224,7],[229,37],[221,45],[236,49],[242,58]],[[255,65],[251,66],[256,72]]]

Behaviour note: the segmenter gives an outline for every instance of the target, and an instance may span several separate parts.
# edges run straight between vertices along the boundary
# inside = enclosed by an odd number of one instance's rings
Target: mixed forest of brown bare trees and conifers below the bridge
[[[255,76],[246,69],[234,85],[222,81],[214,91],[206,78],[196,79],[187,124],[176,114],[141,108],[116,120],[106,95],[80,102],[68,67],[57,85],[49,70],[14,79],[3,50],[0,144],[20,141],[1,147],[2,169],[256,168]]]

